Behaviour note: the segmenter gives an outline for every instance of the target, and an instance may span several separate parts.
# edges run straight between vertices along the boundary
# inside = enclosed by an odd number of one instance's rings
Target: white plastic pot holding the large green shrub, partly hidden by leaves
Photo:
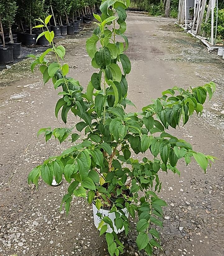
[[[111,210],[111,209],[110,209]],[[100,208],[99,210],[96,208],[96,205],[93,203],[93,217],[94,217],[94,225],[95,227],[98,229],[98,226],[99,226],[99,223],[101,221],[101,218],[99,216],[97,216],[96,214],[99,212],[102,214],[102,216],[107,216],[109,217],[111,220],[112,220],[112,223],[113,223],[113,227],[114,227],[114,232],[116,234],[118,233],[121,233],[123,230],[124,230],[124,227],[122,229],[118,229],[116,228],[115,226],[115,223],[114,223],[114,220],[116,219],[116,216],[115,216],[115,213],[112,212],[112,213],[109,213],[110,210],[106,210],[106,209],[102,209]],[[122,211],[125,213],[125,216],[128,218],[129,217],[129,213],[128,213],[128,210],[127,208],[125,207],[124,209],[122,209]],[[107,223],[105,223],[107,224]],[[112,233],[113,232],[113,229],[110,227],[109,224],[107,224],[107,233]]]

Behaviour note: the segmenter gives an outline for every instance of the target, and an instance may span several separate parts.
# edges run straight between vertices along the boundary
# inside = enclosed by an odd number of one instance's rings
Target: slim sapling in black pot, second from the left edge
[[[15,22],[15,16],[16,16],[16,1],[14,0],[2,0],[3,4],[5,5],[5,12],[4,12],[4,20],[5,25],[9,29],[9,42],[6,42],[7,46],[13,47],[13,58],[20,58],[21,57],[21,42],[14,41],[13,35],[12,35],[12,24]],[[17,37],[16,37],[17,38]]]

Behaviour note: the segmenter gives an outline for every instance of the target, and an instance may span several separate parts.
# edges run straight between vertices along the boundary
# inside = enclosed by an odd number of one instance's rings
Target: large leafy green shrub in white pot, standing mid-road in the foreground
[[[98,27],[86,41],[86,50],[96,72],[85,92],[79,81],[68,76],[69,66],[59,60],[63,60],[65,48],[53,44],[49,31],[46,35],[52,48],[39,57],[33,56],[32,64],[32,70],[40,65],[44,83],[52,79],[54,88],[62,90],[55,108],[56,117],[62,109],[64,123],[69,111],[80,121],[75,125],[76,132],[74,128],[39,130],[38,135],[43,133],[46,142],[52,136],[60,143],[70,139],[71,147],[35,167],[28,182],[37,186],[41,176],[51,185],[53,177],[59,183],[64,176],[70,185],[61,208],[65,204],[68,214],[73,196],[87,198],[93,205],[94,224],[99,235],[106,235],[111,256],[123,252],[124,245],[117,233],[124,230],[128,235],[129,219],[135,216],[138,216],[136,243],[139,250],[144,249],[151,255],[155,246],[160,248],[158,226],[162,227],[162,207],[166,206],[158,197],[162,187],[160,171],[180,175],[176,167],[178,160],[188,165],[193,158],[206,171],[214,161],[214,157],[196,152],[190,143],[168,133],[169,127],[185,125],[194,112],[202,112],[207,95],[211,99],[215,90],[213,82],[187,90],[175,86],[149,102],[141,112],[126,112],[126,105],[135,106],[127,98],[126,78],[131,71],[125,54],[128,49],[124,35],[127,7],[128,3],[106,0],[100,6],[102,18],[94,14]],[[47,26],[46,20],[45,24],[39,22]],[[112,29],[107,25],[112,25]],[[56,55],[57,62],[49,63],[44,59],[49,51]],[[81,132],[85,133],[84,138],[80,138]],[[141,160],[133,153],[142,156]]]

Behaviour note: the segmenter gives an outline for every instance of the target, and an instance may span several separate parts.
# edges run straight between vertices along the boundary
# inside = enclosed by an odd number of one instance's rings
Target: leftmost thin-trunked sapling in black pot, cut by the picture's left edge
[[[2,38],[2,46],[0,46],[0,63],[8,64],[13,62],[13,47],[5,45],[5,37],[2,22],[5,20],[5,5],[3,2],[0,2],[0,31]]]

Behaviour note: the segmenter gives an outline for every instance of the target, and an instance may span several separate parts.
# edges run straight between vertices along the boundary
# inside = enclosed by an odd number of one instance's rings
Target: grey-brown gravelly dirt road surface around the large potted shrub
[[[93,72],[85,51],[90,34],[86,30],[81,36],[61,41],[67,50],[70,75],[84,87]],[[156,250],[155,255],[223,256],[224,61],[177,28],[172,19],[128,13],[126,35],[132,63],[127,76],[129,98],[138,109],[173,86],[187,88],[210,80],[217,84],[203,115],[193,116],[184,128],[172,132],[192,143],[196,151],[218,160],[207,174],[194,162],[188,167],[179,165],[181,177],[161,173],[160,193],[168,206],[160,230],[163,250]],[[105,239],[98,237],[91,206],[74,198],[67,217],[64,210],[59,211],[67,189],[65,181],[57,187],[41,181],[38,191],[27,184],[33,167],[68,146],[53,139],[46,145],[36,137],[39,128],[61,127],[63,123],[54,116],[57,91],[51,83],[43,86],[40,74],[32,75],[29,65],[28,59],[0,73],[0,255],[105,256]],[[22,96],[13,99],[18,95]],[[70,115],[67,125],[75,122]],[[124,256],[145,255],[138,252],[135,238],[134,229],[128,238],[121,234]]]

